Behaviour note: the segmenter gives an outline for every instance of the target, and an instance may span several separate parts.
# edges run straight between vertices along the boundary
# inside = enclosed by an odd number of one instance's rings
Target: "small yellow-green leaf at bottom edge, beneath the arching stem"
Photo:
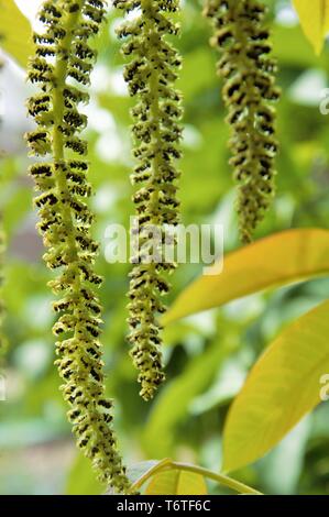
[[[145,495],[207,495],[205,477],[194,472],[168,470],[152,477]]]

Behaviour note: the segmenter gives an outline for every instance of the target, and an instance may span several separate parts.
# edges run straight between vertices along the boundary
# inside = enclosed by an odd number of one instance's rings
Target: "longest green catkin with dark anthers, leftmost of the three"
[[[94,272],[98,245],[90,235],[92,213],[87,179],[87,143],[79,133],[87,118],[78,105],[88,102],[85,86],[96,58],[88,40],[105,18],[100,0],[44,1],[40,20],[43,34],[35,34],[35,55],[29,79],[40,86],[28,101],[36,130],[26,135],[31,154],[47,156],[30,168],[40,195],[39,229],[47,252],[44,260],[58,270],[50,283],[61,295],[54,310],[56,364],[65,384],[64,397],[78,447],[91,459],[101,482],[117,493],[129,493],[129,481],[112,429],[112,400],[105,397],[102,346],[99,341],[101,306],[95,288],[101,278]]]

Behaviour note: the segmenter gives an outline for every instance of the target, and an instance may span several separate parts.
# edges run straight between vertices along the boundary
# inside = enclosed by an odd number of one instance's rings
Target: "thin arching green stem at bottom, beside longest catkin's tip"
[[[156,468],[151,469],[144,475],[142,475],[133,485],[132,488],[134,491],[139,491],[141,486],[146,483],[150,477],[152,477],[155,473],[168,471],[168,470],[179,470],[185,472],[193,472],[195,474],[199,474],[208,480],[216,481],[218,484],[231,488],[239,494],[250,494],[250,495],[263,495],[261,492],[252,488],[251,486],[241,483],[240,481],[233,480],[223,474],[217,474],[216,472],[209,471],[208,469],[204,469],[202,466],[191,465],[189,463],[180,463],[171,460],[165,460],[156,465]]]

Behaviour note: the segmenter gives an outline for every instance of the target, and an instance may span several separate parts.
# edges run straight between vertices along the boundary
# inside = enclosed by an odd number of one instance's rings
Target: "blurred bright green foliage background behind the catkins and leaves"
[[[186,109],[182,219],[186,224],[222,223],[229,251],[239,242],[228,166],[229,131],[215,75],[217,55],[208,45],[210,29],[201,16],[202,2],[182,3],[179,89]],[[266,3],[283,97],[277,197],[257,237],[288,228],[328,228],[329,221],[329,123],[319,111],[321,91],[328,87],[329,51],[314,55],[288,1]],[[114,35],[119,22],[111,10],[98,42],[100,58],[88,108],[90,180],[96,193],[91,204],[97,212],[95,235],[102,249],[98,271],[106,279],[100,296],[108,393],[116,399],[116,426],[127,463],[171,457],[218,471],[228,407],[250,366],[287,322],[328,297],[329,279],[250,296],[168,327],[167,383],[152,404],[140,399],[124,339],[129,265],[109,264],[105,258],[107,226],[128,224],[133,212],[129,184],[129,108],[133,102],[122,79],[123,58]],[[1,72],[0,84],[4,100],[6,87],[15,96],[8,100],[1,129],[1,146],[7,151],[0,163],[0,209],[8,234],[9,352],[7,400],[0,402],[0,494],[98,493],[88,462],[77,455],[53,366],[53,296],[46,287],[51,273],[42,262],[42,243],[34,230],[36,215],[31,208],[32,184],[22,139],[29,124],[23,108],[29,88],[11,65]],[[20,111],[14,114],[13,108]],[[169,298],[200,272],[201,265],[180,265],[172,278]],[[267,494],[328,494],[328,406],[322,404],[266,458],[234,476]],[[224,493],[211,485],[210,490]]]

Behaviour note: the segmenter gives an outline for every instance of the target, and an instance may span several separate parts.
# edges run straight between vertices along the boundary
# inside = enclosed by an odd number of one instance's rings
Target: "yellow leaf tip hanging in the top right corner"
[[[320,54],[329,31],[329,0],[293,0],[293,3],[307,38]]]

